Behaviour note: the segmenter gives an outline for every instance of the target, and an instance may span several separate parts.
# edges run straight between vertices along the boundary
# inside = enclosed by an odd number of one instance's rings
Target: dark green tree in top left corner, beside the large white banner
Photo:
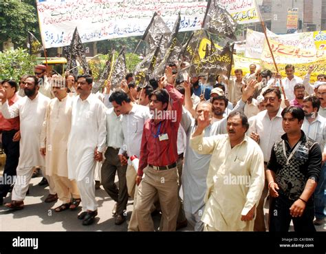
[[[28,31],[32,31],[39,39],[37,12],[34,5],[30,4],[31,2],[32,1],[10,0],[1,3],[1,44],[8,41],[8,39],[12,39],[14,47],[26,47]]]

